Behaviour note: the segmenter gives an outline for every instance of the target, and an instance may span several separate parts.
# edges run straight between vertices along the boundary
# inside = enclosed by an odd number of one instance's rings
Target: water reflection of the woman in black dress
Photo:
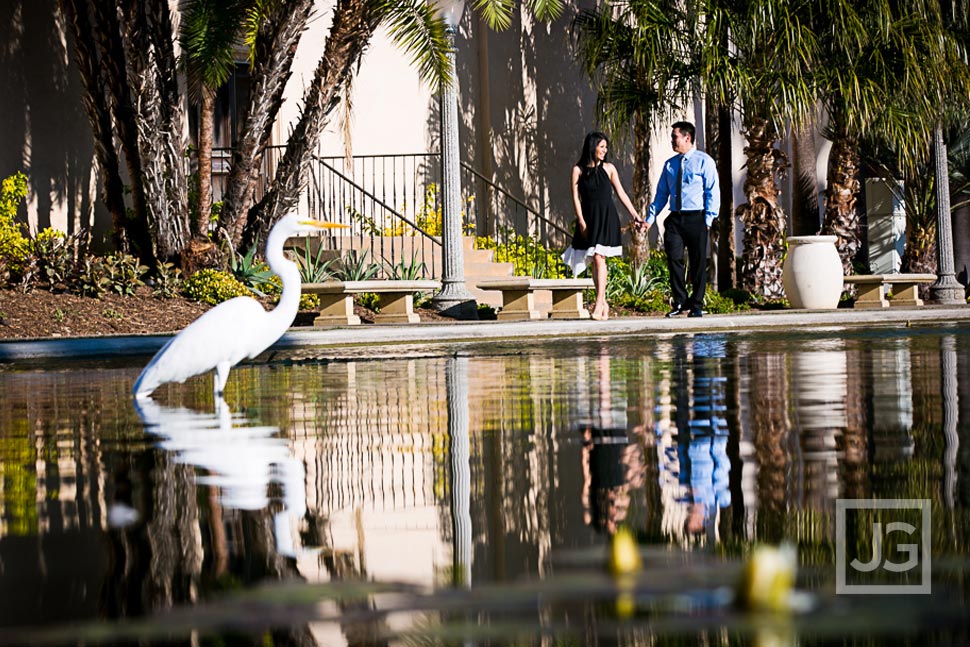
[[[627,433],[626,410],[612,403],[609,355],[597,361],[597,397],[581,424],[583,517],[613,534],[629,514],[631,493],[643,486],[645,465],[638,435],[631,442]]]

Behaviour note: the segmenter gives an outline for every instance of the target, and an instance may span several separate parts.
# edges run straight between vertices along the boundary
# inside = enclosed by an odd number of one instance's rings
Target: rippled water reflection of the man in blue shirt
[[[720,511],[731,505],[724,345],[718,335],[678,338],[661,355],[654,430],[662,528],[681,541],[698,534],[716,540]]]

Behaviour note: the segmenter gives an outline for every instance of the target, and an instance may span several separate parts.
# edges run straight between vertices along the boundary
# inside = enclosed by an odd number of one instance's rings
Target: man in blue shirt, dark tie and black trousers
[[[721,208],[717,168],[710,155],[694,146],[694,124],[678,121],[672,126],[670,145],[677,154],[664,163],[657,183],[657,195],[647,211],[649,227],[657,214],[670,203],[663,237],[670,268],[670,291],[674,298],[668,317],[687,312],[688,317],[703,314],[707,288],[707,238]],[[684,248],[687,249],[691,294],[687,296]]]

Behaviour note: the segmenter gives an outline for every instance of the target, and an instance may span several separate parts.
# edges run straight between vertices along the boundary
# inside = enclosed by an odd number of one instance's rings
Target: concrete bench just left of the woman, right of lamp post
[[[583,305],[583,291],[592,289],[593,279],[533,279],[515,276],[507,279],[479,281],[480,290],[498,290],[502,293],[502,320],[542,319],[544,314],[535,307],[536,290],[552,293],[553,319],[589,319],[589,311]]]

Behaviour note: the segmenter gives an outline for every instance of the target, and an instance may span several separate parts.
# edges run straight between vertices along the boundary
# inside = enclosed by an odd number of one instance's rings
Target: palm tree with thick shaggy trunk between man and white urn
[[[779,180],[788,166],[776,147],[780,124],[800,123],[815,102],[808,70],[817,61],[816,34],[807,2],[707,0],[700,34],[701,79],[708,101],[741,112],[747,202],[737,208],[745,227],[741,288],[755,298],[778,298],[784,258],[785,214]],[[720,41],[727,30],[730,46]]]

